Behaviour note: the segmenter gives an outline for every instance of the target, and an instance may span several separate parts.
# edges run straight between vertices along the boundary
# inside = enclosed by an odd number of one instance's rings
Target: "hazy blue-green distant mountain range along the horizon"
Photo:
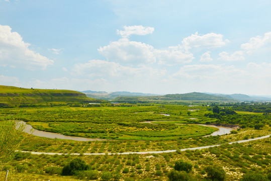
[[[244,94],[216,94],[216,93],[186,93],[155,95],[131,92],[98,92],[81,91],[89,98],[103,99],[117,102],[162,102],[162,101],[196,101],[196,102],[243,102],[243,101],[271,101],[268,97],[248,96]]]

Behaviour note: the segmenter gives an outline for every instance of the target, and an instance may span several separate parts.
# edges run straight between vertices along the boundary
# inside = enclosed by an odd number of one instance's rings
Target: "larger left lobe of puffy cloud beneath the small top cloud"
[[[129,41],[127,38],[111,42],[109,45],[98,49],[99,53],[110,61],[137,64],[155,62],[153,50],[154,48],[151,45]]]

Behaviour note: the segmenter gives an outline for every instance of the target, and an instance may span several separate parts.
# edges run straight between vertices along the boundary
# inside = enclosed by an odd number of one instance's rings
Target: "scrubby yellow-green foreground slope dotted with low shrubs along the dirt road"
[[[264,129],[270,131],[270,128]],[[246,130],[247,131],[247,130]],[[246,131],[240,131],[240,135],[246,134]],[[257,130],[251,130],[255,135],[260,134]],[[235,137],[237,134],[229,136]],[[208,138],[209,141],[223,139],[224,136]],[[42,138],[37,138],[42,139]],[[200,142],[199,140],[183,140],[189,142]],[[34,140],[37,141],[37,140]],[[33,142],[34,142],[33,141]],[[42,141],[42,140],[40,140]],[[44,139],[48,145],[64,143],[63,147],[69,146],[72,148],[97,147],[102,149],[106,147],[106,142],[76,142],[57,140],[56,143],[50,139]],[[159,141],[146,142],[146,146],[159,147],[163,143]],[[37,148],[43,147],[45,142]],[[145,143],[135,141],[118,142],[116,145],[145,145]],[[99,145],[99,146],[98,146]],[[9,164],[4,165],[4,169],[11,170],[11,176],[21,178],[20,180],[101,180],[104,172],[110,172],[112,175],[119,174],[117,180],[168,180],[167,173],[173,170],[176,160],[182,159],[193,165],[189,175],[193,180],[206,180],[206,167],[209,165],[223,165],[226,172],[225,180],[239,180],[243,174],[252,172],[253,174],[266,175],[271,169],[271,139],[251,141],[241,144],[224,144],[220,147],[213,147],[201,150],[187,150],[184,152],[161,153],[161,154],[130,154],[130,155],[31,155],[30,153],[18,152],[15,159]],[[56,147],[56,145],[54,145]],[[142,147],[142,146],[139,146]],[[62,149],[59,147],[59,149]],[[140,149],[140,148],[139,148]],[[42,149],[40,150],[42,151]],[[74,158],[80,158],[88,164],[88,171],[96,174],[78,173],[75,176],[62,176],[61,169],[69,161]],[[127,171],[128,170],[128,171]],[[27,176],[26,176],[27,175]],[[4,180],[5,172],[2,172],[0,179]],[[112,179],[113,180],[113,179]]]

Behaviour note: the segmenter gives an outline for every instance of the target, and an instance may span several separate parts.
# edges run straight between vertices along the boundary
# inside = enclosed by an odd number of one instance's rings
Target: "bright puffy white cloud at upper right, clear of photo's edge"
[[[182,45],[186,50],[191,48],[203,47],[203,48],[218,48],[226,45],[229,40],[223,40],[223,35],[216,33],[208,33],[205,35],[199,35],[198,32],[185,38],[182,41]]]

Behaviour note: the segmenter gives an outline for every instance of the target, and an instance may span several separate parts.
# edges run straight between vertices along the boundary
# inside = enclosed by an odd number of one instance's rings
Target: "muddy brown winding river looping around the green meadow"
[[[35,136],[40,136],[40,137],[46,137],[46,138],[52,138],[52,139],[55,139],[55,138],[67,139],[67,140],[74,140],[74,141],[105,141],[106,140],[106,139],[100,139],[100,138],[84,138],[84,137],[76,137],[76,136],[66,136],[59,133],[40,131],[40,130],[34,129],[31,125],[26,124],[26,122],[24,121],[21,121],[21,123],[25,125],[24,132],[35,135]],[[142,123],[153,124],[152,121],[146,121]],[[212,134],[206,135],[206,136],[217,136],[217,135],[229,134],[230,131],[233,130],[233,128],[228,128],[228,127],[223,127],[223,126],[204,125],[204,124],[196,124],[196,125],[211,126],[211,127],[215,127],[219,129],[218,131],[215,131]]]

